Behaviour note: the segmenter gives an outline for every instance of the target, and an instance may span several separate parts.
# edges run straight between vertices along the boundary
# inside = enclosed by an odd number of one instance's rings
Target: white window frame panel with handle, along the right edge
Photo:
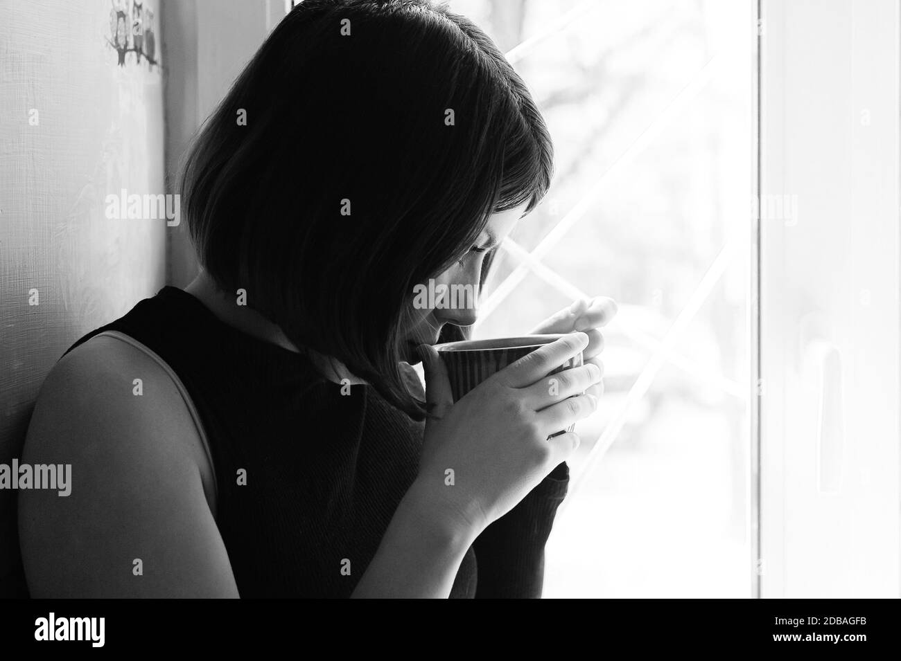
[[[761,11],[760,594],[897,597],[899,8]]]

